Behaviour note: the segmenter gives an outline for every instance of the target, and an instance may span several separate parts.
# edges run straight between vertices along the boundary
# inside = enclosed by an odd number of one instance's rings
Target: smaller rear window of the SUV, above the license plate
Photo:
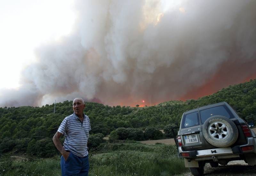
[[[192,112],[189,114],[185,114],[182,119],[181,128],[188,128],[191,126],[196,126],[200,124],[198,112]]]

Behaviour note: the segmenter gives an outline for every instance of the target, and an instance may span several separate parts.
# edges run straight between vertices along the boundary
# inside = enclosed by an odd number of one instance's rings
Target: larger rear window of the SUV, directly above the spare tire
[[[215,106],[208,109],[203,109],[199,111],[202,124],[211,116],[225,116],[228,118],[235,118],[234,115],[230,112],[226,105]]]

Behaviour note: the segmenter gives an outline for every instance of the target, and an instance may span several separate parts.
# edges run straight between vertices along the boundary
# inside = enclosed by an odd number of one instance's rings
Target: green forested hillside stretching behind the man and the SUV
[[[228,102],[242,118],[256,123],[256,80],[223,88],[197,100],[168,101],[151,107],[110,107],[86,102],[85,114],[91,121],[91,139],[96,139],[119,127],[145,130],[149,126],[164,129],[168,124],[179,125],[184,111],[221,101]],[[13,150],[39,156],[57,153],[52,137],[61,121],[73,113],[72,101],[56,103],[55,114],[53,109],[54,104],[41,108],[0,108],[0,152]]]

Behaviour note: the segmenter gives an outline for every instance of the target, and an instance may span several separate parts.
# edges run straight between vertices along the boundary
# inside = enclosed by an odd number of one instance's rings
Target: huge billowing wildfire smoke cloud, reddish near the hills
[[[256,73],[254,0],[76,4],[74,34],[39,47],[23,86],[2,91],[1,107],[76,97],[149,105],[196,92],[218,74],[216,90]]]

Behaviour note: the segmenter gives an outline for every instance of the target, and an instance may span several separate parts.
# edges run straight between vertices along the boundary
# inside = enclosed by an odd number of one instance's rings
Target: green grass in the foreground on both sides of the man
[[[89,155],[92,176],[175,175],[187,172],[184,161],[176,157],[175,146],[140,143],[104,144]],[[2,175],[61,175],[60,156],[0,158]]]

